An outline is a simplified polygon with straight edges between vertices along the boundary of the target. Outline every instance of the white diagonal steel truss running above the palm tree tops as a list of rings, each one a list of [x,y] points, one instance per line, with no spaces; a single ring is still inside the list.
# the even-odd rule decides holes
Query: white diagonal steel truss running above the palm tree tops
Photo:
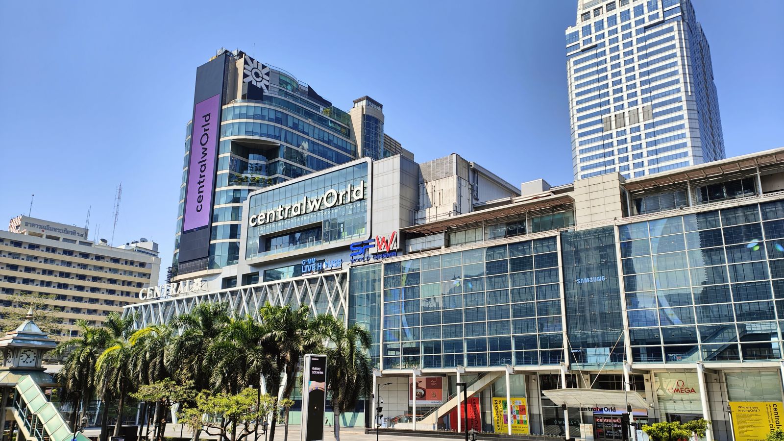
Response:
[[[305,275],[294,279],[264,282],[241,288],[168,297],[145,303],[129,304],[122,315],[139,313],[137,328],[168,323],[173,316],[191,311],[203,302],[226,302],[235,317],[250,315],[259,319],[263,304],[307,304],[314,314],[329,314],[343,323],[348,320],[348,271]]]

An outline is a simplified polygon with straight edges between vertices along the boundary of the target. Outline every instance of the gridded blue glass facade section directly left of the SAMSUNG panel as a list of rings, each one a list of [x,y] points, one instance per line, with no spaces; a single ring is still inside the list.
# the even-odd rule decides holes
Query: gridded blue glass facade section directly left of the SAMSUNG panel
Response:
[[[557,239],[383,264],[383,368],[564,360]]]

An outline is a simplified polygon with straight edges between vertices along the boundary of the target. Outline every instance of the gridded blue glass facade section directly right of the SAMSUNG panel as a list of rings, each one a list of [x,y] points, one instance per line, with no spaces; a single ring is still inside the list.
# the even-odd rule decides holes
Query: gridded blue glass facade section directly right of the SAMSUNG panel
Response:
[[[634,362],[781,358],[784,203],[638,222],[619,234]]]

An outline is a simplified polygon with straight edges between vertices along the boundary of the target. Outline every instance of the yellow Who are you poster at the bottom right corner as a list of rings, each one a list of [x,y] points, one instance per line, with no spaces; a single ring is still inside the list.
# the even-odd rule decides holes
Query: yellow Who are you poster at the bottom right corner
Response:
[[[782,428],[784,404],[779,401],[731,401],[730,410],[735,441],[764,441]]]

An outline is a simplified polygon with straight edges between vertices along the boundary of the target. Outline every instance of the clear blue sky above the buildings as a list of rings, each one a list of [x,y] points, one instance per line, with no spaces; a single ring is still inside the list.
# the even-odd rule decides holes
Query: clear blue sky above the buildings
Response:
[[[781,0],[692,0],[735,156],[784,146]],[[419,162],[572,181],[564,30],[576,0],[0,2],[0,223],[146,237],[171,263],[196,67],[239,48],[348,110],[369,95]]]

